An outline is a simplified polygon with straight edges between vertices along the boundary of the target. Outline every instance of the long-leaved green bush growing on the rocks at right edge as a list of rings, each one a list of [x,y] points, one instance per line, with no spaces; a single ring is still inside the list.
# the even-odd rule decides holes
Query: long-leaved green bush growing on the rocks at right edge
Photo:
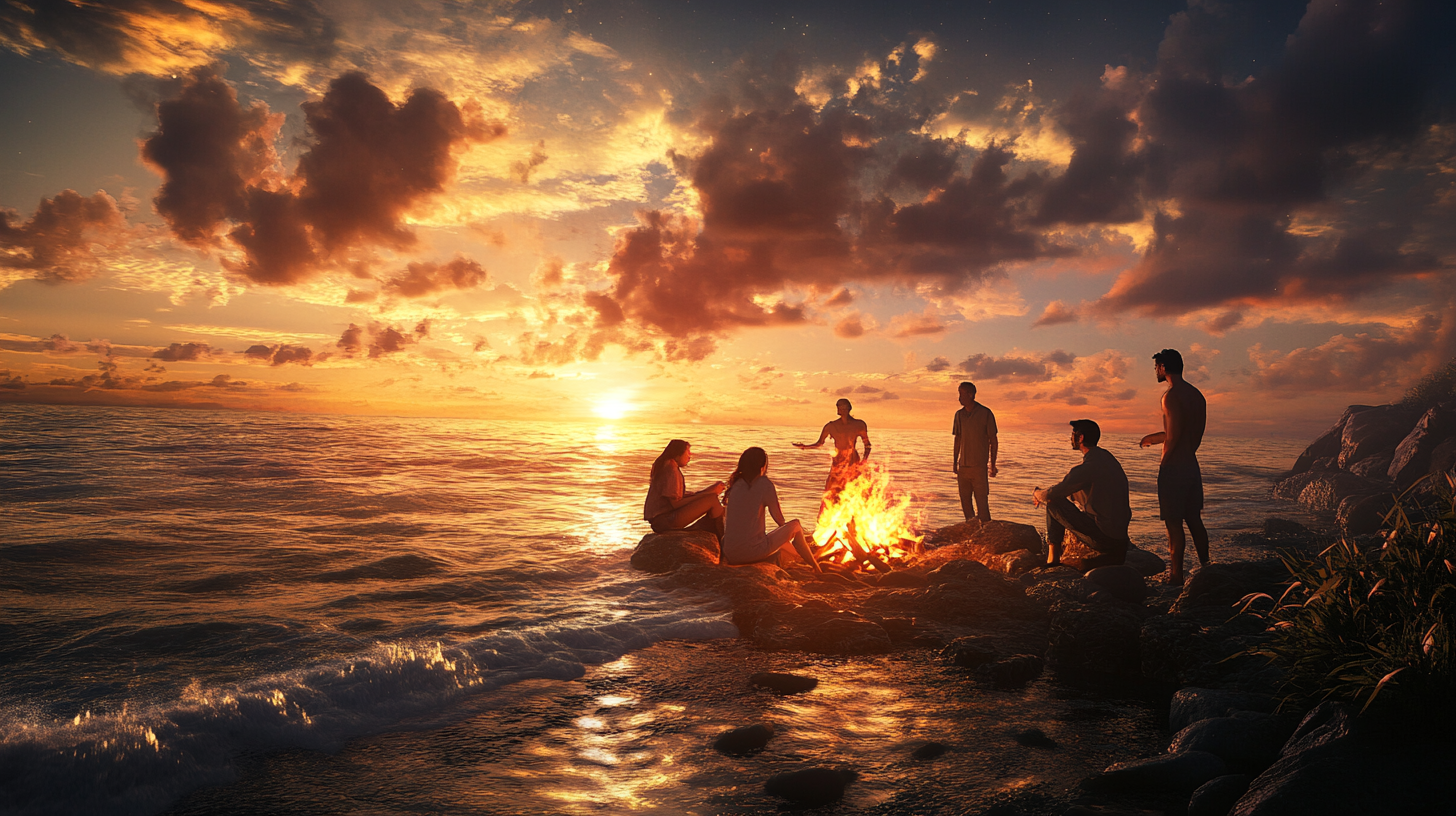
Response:
[[[1348,538],[1315,558],[1281,554],[1283,597],[1264,606],[1273,638],[1258,653],[1284,669],[1284,708],[1322,699],[1399,723],[1456,724],[1456,504],[1386,516],[1380,546]],[[1252,609],[1251,609],[1252,611]]]

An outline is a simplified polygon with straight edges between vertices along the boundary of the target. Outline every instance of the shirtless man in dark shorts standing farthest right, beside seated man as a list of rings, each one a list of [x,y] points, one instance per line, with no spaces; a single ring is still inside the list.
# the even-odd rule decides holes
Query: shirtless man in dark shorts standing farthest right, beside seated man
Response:
[[[1203,526],[1203,474],[1198,471],[1198,444],[1208,423],[1208,401],[1182,379],[1182,354],[1163,348],[1153,354],[1158,382],[1171,383],[1163,392],[1163,430],[1143,437],[1142,446],[1163,446],[1158,465],[1158,511],[1168,527],[1168,583],[1184,581],[1184,523],[1198,551],[1198,564],[1208,565],[1208,530]]]

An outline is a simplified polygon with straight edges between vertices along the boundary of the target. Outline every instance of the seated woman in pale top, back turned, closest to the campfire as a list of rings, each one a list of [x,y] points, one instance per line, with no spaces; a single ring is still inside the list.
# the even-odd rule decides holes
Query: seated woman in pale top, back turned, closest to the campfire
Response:
[[[823,573],[814,551],[804,538],[804,525],[798,519],[783,520],[779,509],[779,491],[769,481],[769,455],[761,447],[750,447],[738,458],[738,469],[728,478],[727,529],[724,532],[724,564],[753,564],[778,557],[780,551],[798,551],[805,564]],[[764,533],[763,511],[773,514],[779,525]]]

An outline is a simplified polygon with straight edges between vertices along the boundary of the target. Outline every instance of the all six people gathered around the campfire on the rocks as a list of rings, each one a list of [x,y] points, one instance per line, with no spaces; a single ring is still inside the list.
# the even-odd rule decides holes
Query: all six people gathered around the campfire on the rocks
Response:
[[[1172,348],[1153,354],[1158,382],[1169,383],[1162,396],[1163,430],[1142,439],[1140,447],[1162,444],[1158,468],[1159,516],[1168,530],[1172,565],[1168,581],[1184,581],[1184,526],[1192,536],[1198,562],[1208,564],[1208,530],[1203,525],[1203,475],[1198,469],[1198,446],[1203,442],[1208,409],[1203,393],[1182,377],[1182,356]],[[965,520],[990,522],[990,479],[997,475],[996,415],[976,401],[976,385],[962,382],[958,388],[961,409],[955,412],[955,437],[951,469],[960,488],[961,511]],[[812,449],[834,442],[834,459],[824,495],[831,497],[853,476],[862,460],[869,459],[869,428],[863,420],[850,415],[847,399],[836,404],[839,418],[824,425],[818,442],[794,443]],[[1092,420],[1070,423],[1070,442],[1082,452],[1082,463],[1072,468],[1057,484],[1032,490],[1031,498],[1047,513],[1047,564],[1061,562],[1066,533],[1072,533],[1098,555],[1083,561],[1083,567],[1121,564],[1131,546],[1127,535],[1133,519],[1127,474],[1117,458],[1101,447],[1102,430]],[[863,456],[858,442],[863,442]],[[692,446],[680,439],[667,444],[652,463],[651,484],[642,517],[654,532],[711,530],[722,542],[725,564],[753,564],[779,558],[780,554],[802,558],[815,571],[818,560],[804,535],[798,519],[785,520],[779,495],[767,476],[769,459],[761,447],[750,447],[738,458],[728,482],[713,482],[686,493],[681,469],[692,460]],[[764,514],[779,525],[766,529]]]

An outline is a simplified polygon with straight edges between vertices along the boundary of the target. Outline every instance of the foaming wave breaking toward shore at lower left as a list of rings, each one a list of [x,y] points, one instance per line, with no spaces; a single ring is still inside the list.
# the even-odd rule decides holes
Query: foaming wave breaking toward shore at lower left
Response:
[[[735,635],[722,618],[674,612],[598,627],[496,631],[454,646],[381,643],[348,659],[237,685],[194,682],[176,699],[68,720],[0,708],[0,810],[159,813],[197,787],[234,780],[243,752],[336,750],[348,739],[444,715],[508,683],[574,680],[588,664],[662,640]]]

